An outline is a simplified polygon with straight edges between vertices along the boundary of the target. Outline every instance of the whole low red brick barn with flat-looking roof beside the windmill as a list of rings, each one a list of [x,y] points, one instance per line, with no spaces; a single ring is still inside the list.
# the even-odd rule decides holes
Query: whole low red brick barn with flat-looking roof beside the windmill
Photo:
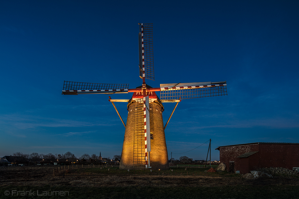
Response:
[[[229,172],[240,174],[263,167],[299,167],[299,143],[256,142],[219,146],[220,162]]]

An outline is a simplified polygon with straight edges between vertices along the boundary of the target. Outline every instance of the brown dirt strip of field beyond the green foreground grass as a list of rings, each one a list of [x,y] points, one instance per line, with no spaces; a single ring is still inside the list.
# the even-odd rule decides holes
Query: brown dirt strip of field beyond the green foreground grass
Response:
[[[80,169],[69,169],[55,172],[52,166],[17,166],[0,167],[0,186],[71,186],[71,187],[103,187],[103,186],[261,186],[261,185],[299,185],[298,177],[275,176],[274,178],[259,178],[248,180],[241,175],[223,176],[208,175],[109,175],[103,173],[85,172]],[[206,173],[206,172],[205,172]]]

